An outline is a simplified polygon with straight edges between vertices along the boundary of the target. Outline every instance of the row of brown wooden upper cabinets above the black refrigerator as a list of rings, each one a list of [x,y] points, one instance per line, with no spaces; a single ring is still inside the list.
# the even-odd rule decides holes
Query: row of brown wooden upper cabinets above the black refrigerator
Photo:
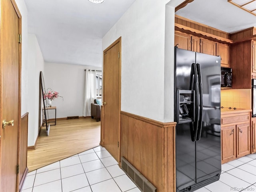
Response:
[[[229,67],[229,46],[175,31],[174,45],[178,48],[221,57],[221,66]]]

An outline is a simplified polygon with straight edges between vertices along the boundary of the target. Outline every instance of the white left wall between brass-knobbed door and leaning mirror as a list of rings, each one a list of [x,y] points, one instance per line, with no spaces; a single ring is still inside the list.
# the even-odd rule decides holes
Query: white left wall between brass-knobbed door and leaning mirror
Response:
[[[28,34],[28,11],[24,0],[15,0],[22,15],[21,115],[28,112],[28,146],[38,135],[39,74],[44,59],[36,36]]]

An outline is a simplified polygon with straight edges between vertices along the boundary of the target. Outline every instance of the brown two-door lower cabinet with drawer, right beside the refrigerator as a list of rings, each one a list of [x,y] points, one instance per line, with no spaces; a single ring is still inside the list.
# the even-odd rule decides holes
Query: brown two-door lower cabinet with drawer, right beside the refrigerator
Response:
[[[222,164],[250,154],[250,112],[221,116]]]

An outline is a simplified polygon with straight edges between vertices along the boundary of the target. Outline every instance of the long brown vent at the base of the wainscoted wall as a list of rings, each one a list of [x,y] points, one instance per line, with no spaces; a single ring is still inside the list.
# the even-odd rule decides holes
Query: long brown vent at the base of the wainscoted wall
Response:
[[[130,164],[124,157],[121,158],[122,170],[130,177],[136,186],[142,192],[156,192],[156,188],[152,185],[132,164]]]

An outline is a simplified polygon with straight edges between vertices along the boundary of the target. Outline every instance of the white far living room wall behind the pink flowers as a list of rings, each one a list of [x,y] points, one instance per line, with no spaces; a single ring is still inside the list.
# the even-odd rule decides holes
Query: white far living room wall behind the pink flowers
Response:
[[[101,70],[101,68],[91,66],[45,62],[45,88],[59,92],[64,98],[64,100],[57,98],[52,101],[52,106],[57,108],[57,118],[82,116],[85,69]]]

